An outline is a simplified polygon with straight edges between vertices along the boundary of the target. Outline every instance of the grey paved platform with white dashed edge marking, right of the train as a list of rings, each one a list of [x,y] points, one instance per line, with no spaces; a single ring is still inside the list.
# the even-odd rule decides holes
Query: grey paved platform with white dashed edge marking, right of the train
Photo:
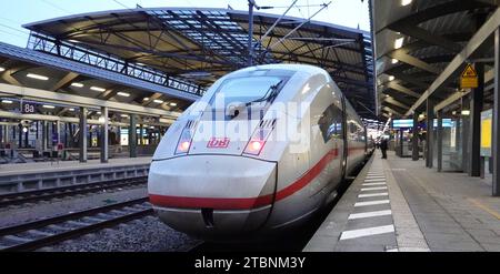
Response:
[[[377,151],[304,247],[308,252],[500,251],[491,183]]]

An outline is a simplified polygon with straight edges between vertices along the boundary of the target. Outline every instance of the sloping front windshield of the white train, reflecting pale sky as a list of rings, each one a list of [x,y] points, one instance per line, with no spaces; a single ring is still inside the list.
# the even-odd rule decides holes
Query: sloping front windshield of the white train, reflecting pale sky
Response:
[[[248,77],[226,80],[212,98],[217,109],[226,109],[229,104],[252,104],[270,101],[281,89],[282,78]],[[213,101],[214,100],[214,101]]]

